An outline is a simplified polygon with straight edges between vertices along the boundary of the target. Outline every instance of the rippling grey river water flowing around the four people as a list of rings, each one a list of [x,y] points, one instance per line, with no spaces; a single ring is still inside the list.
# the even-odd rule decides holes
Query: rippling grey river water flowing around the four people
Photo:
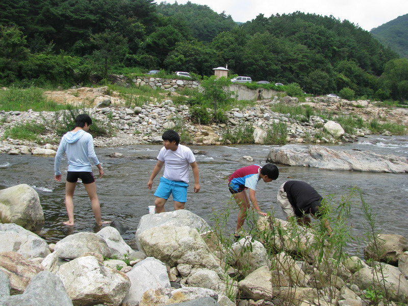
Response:
[[[300,145],[300,144],[299,144]],[[132,244],[140,217],[148,213],[147,207],[154,205],[154,190],[147,188],[150,173],[156,164],[156,157],[162,145],[133,145],[113,148],[96,148],[99,161],[103,164],[105,176],[96,180],[102,215],[105,220],[118,220],[129,226],[122,237]],[[186,209],[206,219],[211,224],[214,212],[225,211],[230,200],[227,176],[236,169],[251,165],[263,165],[273,145],[231,145],[231,146],[190,146],[199,150],[196,155],[201,190],[193,192],[193,176],[190,170],[190,187]],[[370,150],[378,154],[408,156],[408,137],[372,136],[361,138],[358,143],[336,145],[331,148]],[[123,154],[123,158],[111,158],[112,152]],[[243,156],[251,156],[248,162]],[[61,169],[66,168],[66,162]],[[353,186],[362,190],[364,200],[376,214],[376,225],[383,233],[400,234],[408,237],[407,228],[407,174],[371,173],[351,171],[328,171],[316,168],[279,166],[279,177],[271,183],[258,184],[257,198],[265,212],[274,211],[278,218],[284,218],[276,202],[279,186],[290,179],[310,183],[323,197],[332,197],[334,203],[349,193]],[[63,237],[78,232],[97,232],[90,201],[82,184],[78,184],[74,195],[75,225],[65,226],[67,220],[64,205],[65,185],[54,180],[54,159],[34,156],[0,155],[0,189],[17,184],[28,184],[39,194],[43,207],[45,224],[39,235],[48,242],[57,242]],[[94,173],[97,174],[96,167]],[[63,172],[63,176],[64,172]],[[97,175],[95,176],[97,177]],[[166,204],[167,211],[173,210],[171,197]],[[235,230],[237,209],[233,209],[227,227]],[[366,232],[364,215],[360,204],[351,207],[348,224],[353,237],[363,237]],[[348,244],[350,253],[360,253],[362,242]]]

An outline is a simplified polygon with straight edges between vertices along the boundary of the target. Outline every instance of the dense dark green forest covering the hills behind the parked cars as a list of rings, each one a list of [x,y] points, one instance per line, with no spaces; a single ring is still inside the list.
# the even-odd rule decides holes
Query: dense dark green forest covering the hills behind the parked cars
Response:
[[[408,97],[406,61],[367,31],[333,16],[260,14],[238,25],[224,12],[191,2],[0,3],[3,86],[68,87],[150,69],[209,76],[225,65],[230,75],[296,83],[311,94]]]

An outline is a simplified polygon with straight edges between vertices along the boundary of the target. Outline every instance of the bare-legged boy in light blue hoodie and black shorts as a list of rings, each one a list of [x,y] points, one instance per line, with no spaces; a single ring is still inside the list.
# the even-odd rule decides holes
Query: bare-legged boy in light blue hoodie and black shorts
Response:
[[[92,211],[96,224],[102,225],[110,223],[102,221],[98,195],[96,194],[96,184],[92,173],[90,159],[99,170],[99,176],[104,176],[104,170],[96,157],[93,148],[92,135],[87,133],[92,124],[92,119],[87,114],[78,115],[75,120],[75,129],[67,132],[61,139],[54,162],[55,179],[61,182],[60,164],[65,152],[68,160],[67,179],[65,184],[65,206],[68,213],[68,221],[65,225],[73,225],[73,193],[77,186],[78,179],[84,183],[85,190],[92,203]]]

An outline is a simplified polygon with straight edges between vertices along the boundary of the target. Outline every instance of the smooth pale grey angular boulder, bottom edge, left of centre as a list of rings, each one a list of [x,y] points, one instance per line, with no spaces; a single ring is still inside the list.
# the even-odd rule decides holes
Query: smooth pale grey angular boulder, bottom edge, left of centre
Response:
[[[143,293],[149,289],[171,287],[166,265],[153,257],[142,260],[126,275],[132,285],[122,301],[123,306],[138,305]]]

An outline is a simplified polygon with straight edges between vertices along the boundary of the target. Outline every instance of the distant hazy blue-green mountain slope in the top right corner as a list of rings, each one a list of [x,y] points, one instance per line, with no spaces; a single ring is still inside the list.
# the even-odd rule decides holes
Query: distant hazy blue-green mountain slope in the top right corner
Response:
[[[401,57],[408,58],[408,14],[374,28],[370,33]]]

